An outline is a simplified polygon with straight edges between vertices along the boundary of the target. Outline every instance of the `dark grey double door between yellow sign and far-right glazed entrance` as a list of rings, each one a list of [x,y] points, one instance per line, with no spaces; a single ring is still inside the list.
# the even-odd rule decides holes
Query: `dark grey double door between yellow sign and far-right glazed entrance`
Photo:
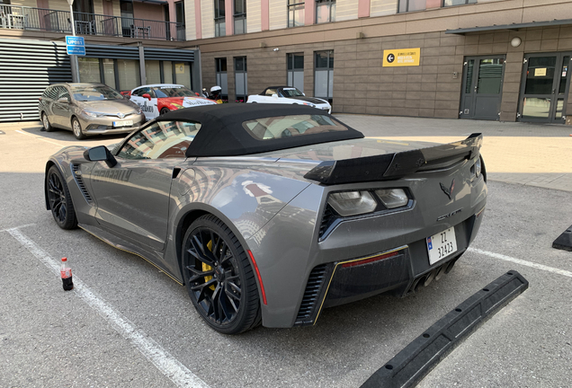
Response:
[[[460,96],[460,119],[497,120],[505,56],[466,57]]]

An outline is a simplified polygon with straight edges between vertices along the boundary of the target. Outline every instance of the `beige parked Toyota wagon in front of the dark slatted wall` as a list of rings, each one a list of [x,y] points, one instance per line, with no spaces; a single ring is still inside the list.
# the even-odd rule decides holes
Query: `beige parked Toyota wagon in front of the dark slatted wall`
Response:
[[[38,111],[46,131],[68,129],[78,139],[129,133],[145,122],[137,104],[106,84],[49,85]]]

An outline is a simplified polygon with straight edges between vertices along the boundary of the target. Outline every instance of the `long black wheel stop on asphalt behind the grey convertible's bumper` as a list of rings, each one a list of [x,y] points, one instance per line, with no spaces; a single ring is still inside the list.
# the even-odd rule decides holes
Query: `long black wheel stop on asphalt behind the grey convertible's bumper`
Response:
[[[415,386],[461,340],[526,288],[528,281],[521,274],[514,270],[508,271],[434,323],[371,375],[361,388]]]

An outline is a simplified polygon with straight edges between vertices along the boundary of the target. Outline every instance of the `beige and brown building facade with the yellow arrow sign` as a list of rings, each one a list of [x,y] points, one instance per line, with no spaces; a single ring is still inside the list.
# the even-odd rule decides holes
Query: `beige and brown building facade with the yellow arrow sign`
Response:
[[[290,84],[335,112],[571,124],[570,0],[245,0],[238,34],[239,1],[187,23],[229,101]]]

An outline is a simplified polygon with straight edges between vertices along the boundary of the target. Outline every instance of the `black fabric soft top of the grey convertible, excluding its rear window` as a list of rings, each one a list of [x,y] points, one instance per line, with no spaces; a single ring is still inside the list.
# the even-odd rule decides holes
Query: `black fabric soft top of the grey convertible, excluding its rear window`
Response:
[[[217,104],[172,110],[157,121],[195,121],[201,129],[186,151],[187,157],[234,156],[277,151],[302,145],[362,138],[363,134],[344,124],[348,130],[320,132],[297,137],[259,140],[243,127],[243,122],[277,116],[317,115],[331,117],[323,110],[285,104]]]

